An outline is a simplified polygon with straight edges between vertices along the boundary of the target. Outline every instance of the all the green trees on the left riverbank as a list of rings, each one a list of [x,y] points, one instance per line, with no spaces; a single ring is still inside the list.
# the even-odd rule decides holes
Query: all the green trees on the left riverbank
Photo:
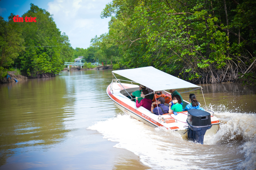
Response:
[[[0,78],[13,68],[20,69],[29,78],[59,74],[74,51],[52,15],[31,4],[22,17],[33,16],[37,22],[14,22],[14,16],[11,14],[8,21],[0,17]]]

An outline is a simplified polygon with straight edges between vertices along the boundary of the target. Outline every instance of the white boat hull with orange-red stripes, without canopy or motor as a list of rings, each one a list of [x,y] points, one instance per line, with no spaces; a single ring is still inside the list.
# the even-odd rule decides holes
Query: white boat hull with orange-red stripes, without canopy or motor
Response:
[[[129,114],[133,118],[145,123],[150,127],[165,127],[167,129],[174,130],[178,132],[184,139],[187,139],[187,112],[180,112],[177,115],[165,114],[159,117],[143,107],[137,108],[135,102],[131,101],[126,96],[128,96],[127,92],[131,93],[138,89],[138,85],[122,83],[121,86],[119,83],[113,82],[108,86],[107,94],[109,98],[113,100],[115,105],[124,113]],[[163,91],[163,93],[169,94],[165,91]],[[220,123],[215,116],[211,116],[211,123],[212,127],[206,131],[206,135],[216,134],[216,132],[219,130]]]

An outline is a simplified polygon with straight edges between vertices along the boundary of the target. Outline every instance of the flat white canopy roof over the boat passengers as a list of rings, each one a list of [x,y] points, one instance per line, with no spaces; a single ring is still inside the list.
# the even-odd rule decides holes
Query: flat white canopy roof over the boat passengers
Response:
[[[136,83],[140,83],[141,85],[144,85],[154,91],[201,87],[167,74],[152,66],[136,69],[116,70],[112,71],[112,73],[119,74],[120,76],[135,81]]]

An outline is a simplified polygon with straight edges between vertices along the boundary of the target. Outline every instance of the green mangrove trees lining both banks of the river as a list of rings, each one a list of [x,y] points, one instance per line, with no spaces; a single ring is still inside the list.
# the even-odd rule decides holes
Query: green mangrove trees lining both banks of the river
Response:
[[[113,69],[153,66],[193,83],[256,84],[256,1],[113,0],[101,17],[109,31],[87,49],[70,46],[50,13],[31,4],[22,17],[0,18],[0,76],[18,68],[30,78],[54,76],[83,56]]]

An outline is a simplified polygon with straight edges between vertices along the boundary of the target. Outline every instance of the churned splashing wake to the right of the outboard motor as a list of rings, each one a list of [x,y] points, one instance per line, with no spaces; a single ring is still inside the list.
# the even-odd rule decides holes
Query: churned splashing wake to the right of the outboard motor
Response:
[[[210,106],[211,110],[216,110]],[[225,110],[225,106],[218,106]],[[239,111],[239,109],[237,109]],[[245,160],[238,165],[238,168],[248,170],[256,169],[256,114],[239,113],[234,110],[220,112],[215,111],[215,116],[221,122],[220,130],[213,136],[212,144],[239,142],[238,148],[244,155]],[[214,142],[213,142],[214,141]],[[209,142],[210,143],[210,142]]]

